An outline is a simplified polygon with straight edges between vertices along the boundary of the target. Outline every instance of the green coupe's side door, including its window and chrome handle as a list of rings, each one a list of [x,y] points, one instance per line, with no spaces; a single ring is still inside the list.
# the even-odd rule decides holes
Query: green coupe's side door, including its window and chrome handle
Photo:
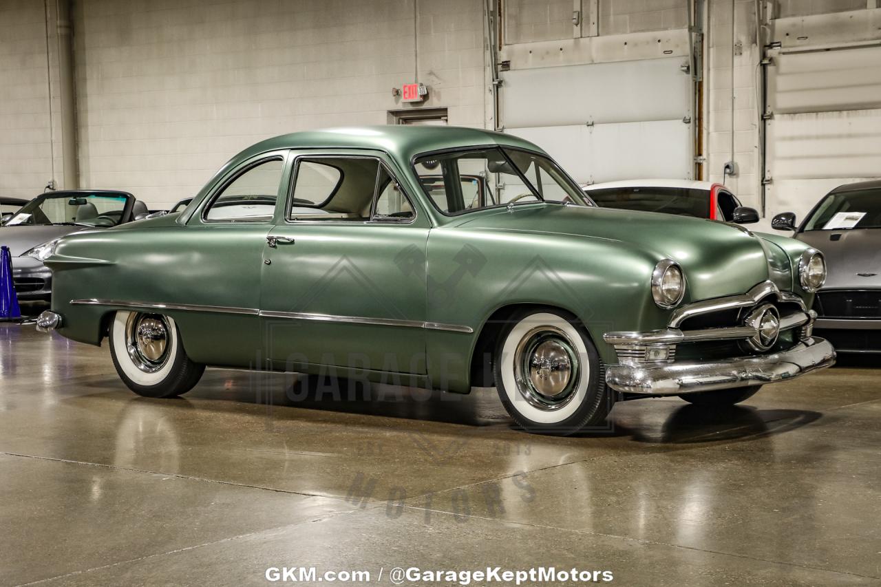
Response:
[[[265,245],[261,316],[274,368],[426,373],[430,224],[381,152],[300,152]]]

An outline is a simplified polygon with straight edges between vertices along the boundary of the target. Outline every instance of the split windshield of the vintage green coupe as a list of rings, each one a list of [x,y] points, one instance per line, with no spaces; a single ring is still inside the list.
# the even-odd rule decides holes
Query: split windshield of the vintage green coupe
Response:
[[[419,157],[419,183],[448,215],[503,204],[548,202],[586,205],[581,190],[552,160],[500,147]]]

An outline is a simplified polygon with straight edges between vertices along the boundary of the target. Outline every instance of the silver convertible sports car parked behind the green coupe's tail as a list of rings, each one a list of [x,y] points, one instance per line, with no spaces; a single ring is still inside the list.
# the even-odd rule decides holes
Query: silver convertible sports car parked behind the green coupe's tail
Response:
[[[52,272],[43,261],[66,234],[115,227],[145,216],[147,206],[124,191],[50,191],[25,204],[0,227],[0,245],[12,254],[19,300],[48,300]]]

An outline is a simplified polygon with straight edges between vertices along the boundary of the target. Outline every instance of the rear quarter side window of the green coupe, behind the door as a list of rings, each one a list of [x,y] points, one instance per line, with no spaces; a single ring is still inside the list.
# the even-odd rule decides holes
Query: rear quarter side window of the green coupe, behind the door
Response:
[[[269,220],[275,211],[285,161],[264,160],[248,168],[214,197],[204,219],[226,222]]]

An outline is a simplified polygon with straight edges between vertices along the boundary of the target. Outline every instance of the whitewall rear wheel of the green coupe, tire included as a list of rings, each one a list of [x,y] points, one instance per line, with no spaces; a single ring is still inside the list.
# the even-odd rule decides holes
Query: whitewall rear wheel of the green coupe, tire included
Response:
[[[189,360],[174,320],[118,311],[110,325],[110,356],[122,382],[145,398],[174,398],[193,389],[205,366]]]

